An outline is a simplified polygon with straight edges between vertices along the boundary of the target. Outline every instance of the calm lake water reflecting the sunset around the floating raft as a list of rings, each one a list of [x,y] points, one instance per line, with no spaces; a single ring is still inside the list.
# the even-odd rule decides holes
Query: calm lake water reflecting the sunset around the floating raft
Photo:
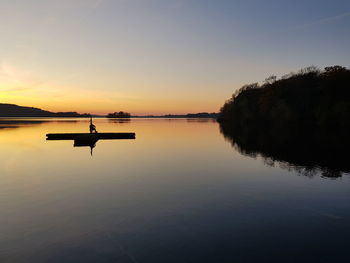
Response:
[[[0,262],[350,262],[350,177],[232,148],[211,120],[0,120]]]

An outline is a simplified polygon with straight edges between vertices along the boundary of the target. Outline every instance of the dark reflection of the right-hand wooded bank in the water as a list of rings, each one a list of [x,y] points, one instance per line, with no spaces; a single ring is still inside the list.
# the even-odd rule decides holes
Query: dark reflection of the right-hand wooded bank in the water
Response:
[[[338,178],[350,172],[348,138],[258,130],[241,132],[225,124],[220,124],[220,132],[238,152],[252,158],[261,156],[268,166],[279,165],[308,177]]]

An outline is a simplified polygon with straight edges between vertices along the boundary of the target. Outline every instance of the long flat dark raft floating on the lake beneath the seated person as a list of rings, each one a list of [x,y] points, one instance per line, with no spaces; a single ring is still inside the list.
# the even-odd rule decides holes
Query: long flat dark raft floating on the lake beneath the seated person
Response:
[[[48,133],[46,140],[113,140],[113,139],[135,139],[133,132],[113,133]]]

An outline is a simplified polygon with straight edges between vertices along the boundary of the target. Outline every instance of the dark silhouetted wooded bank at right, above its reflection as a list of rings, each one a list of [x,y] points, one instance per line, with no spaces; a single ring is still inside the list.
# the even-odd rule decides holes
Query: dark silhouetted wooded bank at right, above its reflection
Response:
[[[350,129],[350,70],[312,66],[262,85],[248,84],[220,109],[219,122],[239,130],[265,131]]]

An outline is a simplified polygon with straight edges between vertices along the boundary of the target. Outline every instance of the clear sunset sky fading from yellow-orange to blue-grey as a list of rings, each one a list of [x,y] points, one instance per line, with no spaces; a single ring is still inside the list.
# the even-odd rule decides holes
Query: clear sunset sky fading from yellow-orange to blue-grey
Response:
[[[0,1],[0,103],[217,112],[311,65],[350,67],[349,0]]]

